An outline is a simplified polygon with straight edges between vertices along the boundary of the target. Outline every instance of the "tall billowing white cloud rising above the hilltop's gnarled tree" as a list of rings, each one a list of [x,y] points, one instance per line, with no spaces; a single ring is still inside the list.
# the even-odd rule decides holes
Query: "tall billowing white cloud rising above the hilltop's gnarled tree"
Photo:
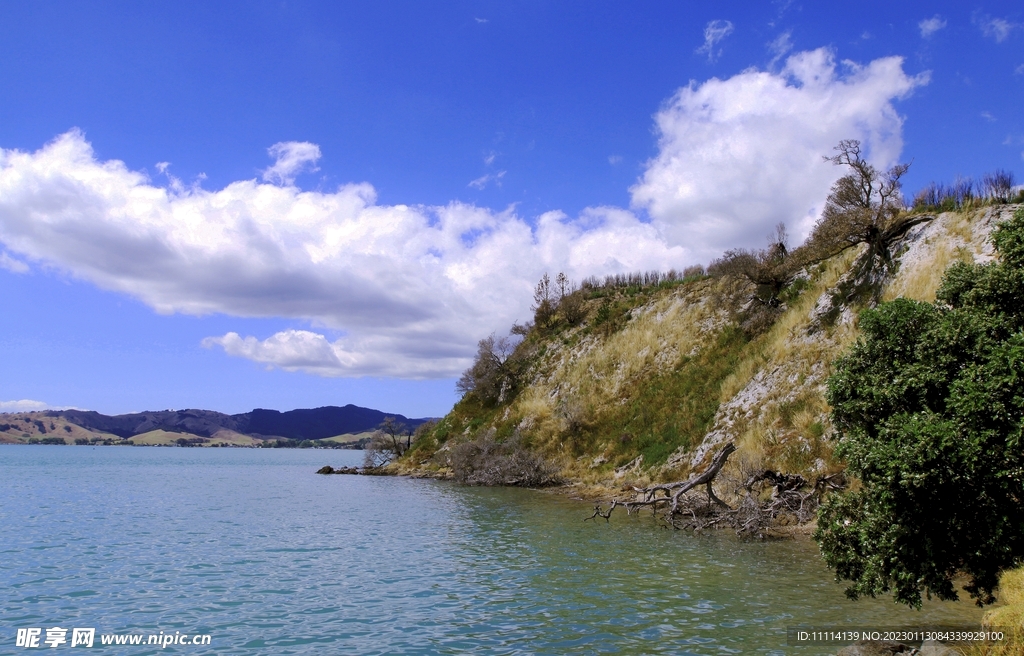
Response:
[[[691,82],[657,113],[658,155],[631,189],[671,244],[707,261],[763,246],[773,225],[806,235],[842,171],[822,162],[860,139],[878,166],[902,149],[892,101],[926,84],[899,57],[839,68],[826,49],[799,52],[778,73]]]

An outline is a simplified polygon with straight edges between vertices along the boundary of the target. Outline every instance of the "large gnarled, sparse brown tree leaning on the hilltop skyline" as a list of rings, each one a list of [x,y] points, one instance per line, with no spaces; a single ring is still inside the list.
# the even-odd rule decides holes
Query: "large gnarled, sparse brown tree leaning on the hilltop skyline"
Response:
[[[804,264],[820,262],[861,244],[867,251],[854,265],[855,288],[868,285],[878,300],[878,285],[870,285],[872,274],[884,266],[894,268],[890,247],[913,226],[930,221],[929,215],[904,212],[900,179],[910,168],[897,164],[881,172],[862,157],[860,141],[844,139],[835,148],[839,154],[825,162],[850,169],[831,187],[821,218],[815,224],[807,245],[800,249]]]

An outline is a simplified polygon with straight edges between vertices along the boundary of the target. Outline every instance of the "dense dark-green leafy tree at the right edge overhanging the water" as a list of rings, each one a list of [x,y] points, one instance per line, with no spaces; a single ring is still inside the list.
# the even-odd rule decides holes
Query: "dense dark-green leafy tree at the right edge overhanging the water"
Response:
[[[818,514],[818,541],[847,595],[956,599],[970,578],[994,601],[1024,562],[1024,210],[993,232],[1000,260],[955,264],[934,304],[861,315],[827,398],[837,453],[862,482]]]

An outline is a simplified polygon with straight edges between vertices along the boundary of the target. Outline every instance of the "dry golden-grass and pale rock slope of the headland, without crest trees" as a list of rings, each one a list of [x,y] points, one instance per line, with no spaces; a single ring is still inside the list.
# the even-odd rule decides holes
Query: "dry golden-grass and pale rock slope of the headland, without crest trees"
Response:
[[[932,301],[954,261],[987,261],[992,226],[1020,206],[944,213],[892,249],[882,298]],[[734,442],[723,472],[808,478],[842,469],[833,456],[824,384],[857,338],[864,306],[840,290],[858,256],[805,270],[770,322],[752,327],[754,286],[690,276],[659,285],[585,289],[584,317],[530,329],[513,358],[521,382],[499,400],[467,394],[399,465],[444,474],[455,446],[515,437],[584,483],[679,478]]]

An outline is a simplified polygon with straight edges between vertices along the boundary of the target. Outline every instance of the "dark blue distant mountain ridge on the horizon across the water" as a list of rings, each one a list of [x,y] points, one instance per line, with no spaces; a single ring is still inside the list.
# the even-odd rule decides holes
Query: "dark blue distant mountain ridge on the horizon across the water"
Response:
[[[410,429],[415,429],[428,421],[428,418],[410,419],[394,412],[383,412],[351,403],[343,407],[326,405],[286,412],[256,408],[242,414],[184,409],[115,416],[91,410],[50,410],[45,412],[45,416],[60,418],[83,429],[111,433],[122,438],[158,430],[212,437],[218,431],[227,430],[252,437],[318,440],[335,435],[372,431],[387,417],[393,417]]]

